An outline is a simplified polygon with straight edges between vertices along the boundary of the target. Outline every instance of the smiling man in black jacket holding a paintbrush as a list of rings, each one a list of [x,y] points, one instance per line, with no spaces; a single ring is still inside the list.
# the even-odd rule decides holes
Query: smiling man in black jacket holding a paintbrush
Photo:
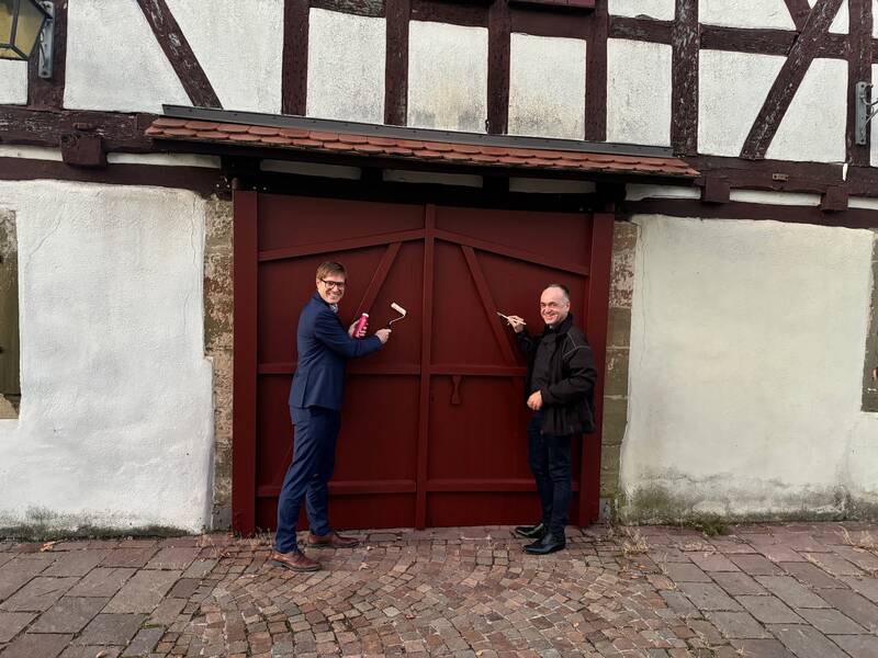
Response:
[[[531,336],[520,317],[508,317],[528,360],[525,396],[533,410],[528,423],[528,458],[542,504],[542,520],[518,526],[516,533],[536,540],[525,546],[534,555],[566,545],[564,527],[573,496],[571,443],[574,435],[595,430],[597,379],[592,348],[573,325],[566,286],[553,283],[542,292],[540,315],[545,322],[540,336]]]

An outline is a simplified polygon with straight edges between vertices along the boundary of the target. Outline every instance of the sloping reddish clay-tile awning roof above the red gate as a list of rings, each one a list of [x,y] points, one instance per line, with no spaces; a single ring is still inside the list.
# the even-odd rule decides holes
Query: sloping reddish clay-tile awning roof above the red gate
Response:
[[[698,172],[686,162],[673,157],[522,148],[451,140],[430,141],[371,134],[313,131],[307,127],[278,127],[159,117],[147,128],[146,134],[157,139],[381,157],[452,166],[678,179],[694,179],[698,175]]]

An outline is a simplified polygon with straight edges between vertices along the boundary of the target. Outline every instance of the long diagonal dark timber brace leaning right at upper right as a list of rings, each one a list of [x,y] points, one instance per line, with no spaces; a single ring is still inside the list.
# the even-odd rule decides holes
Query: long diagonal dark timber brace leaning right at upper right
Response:
[[[821,41],[826,36],[830,24],[838,12],[842,0],[818,0],[801,35],[790,48],[784,67],[775,78],[753,126],[750,129],[742,158],[763,159],[772,144],[784,115],[787,113],[799,86],[818,55]]]

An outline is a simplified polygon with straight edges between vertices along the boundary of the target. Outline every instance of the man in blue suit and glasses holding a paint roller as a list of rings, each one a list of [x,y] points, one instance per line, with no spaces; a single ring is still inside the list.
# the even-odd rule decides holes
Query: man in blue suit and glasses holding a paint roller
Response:
[[[278,500],[278,532],[271,553],[273,561],[294,571],[320,568],[296,544],[295,522],[303,500],[311,527],[308,546],[350,548],[359,543],[333,531],[327,513],[327,484],[333,477],[341,424],[345,363],[380,350],[391,330],[379,329],[374,336],[361,340],[361,336],[353,336],[354,325],[345,331],[338,319],[338,303],[345,296],[346,283],[344,265],[323,263],[317,268],[317,292],[299,316],[299,365],[290,388],[295,450]]]

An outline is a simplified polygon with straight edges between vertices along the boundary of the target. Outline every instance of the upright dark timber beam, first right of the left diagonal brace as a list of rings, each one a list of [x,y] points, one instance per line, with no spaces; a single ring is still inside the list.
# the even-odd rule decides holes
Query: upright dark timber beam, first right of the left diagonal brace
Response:
[[[308,90],[308,0],[284,0],[281,113],[305,115]]]

